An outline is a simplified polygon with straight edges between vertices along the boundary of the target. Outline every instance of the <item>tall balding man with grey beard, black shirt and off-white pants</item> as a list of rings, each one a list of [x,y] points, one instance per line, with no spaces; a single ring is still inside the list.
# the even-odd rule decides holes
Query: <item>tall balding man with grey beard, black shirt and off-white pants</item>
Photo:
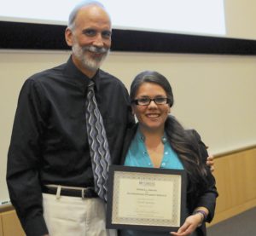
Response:
[[[28,78],[20,91],[7,183],[28,236],[110,235],[104,200],[94,191],[85,110],[93,81],[111,164],[119,164],[125,130],[134,118],[124,84],[99,69],[111,32],[101,3],[79,4],[65,32],[72,56],[66,64]]]

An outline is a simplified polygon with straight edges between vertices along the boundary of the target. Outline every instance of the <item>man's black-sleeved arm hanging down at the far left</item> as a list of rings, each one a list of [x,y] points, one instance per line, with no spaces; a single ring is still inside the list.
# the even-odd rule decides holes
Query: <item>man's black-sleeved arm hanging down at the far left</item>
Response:
[[[33,236],[48,233],[39,180],[40,141],[44,129],[44,104],[39,89],[39,85],[29,79],[20,91],[7,164],[11,202],[26,235]]]

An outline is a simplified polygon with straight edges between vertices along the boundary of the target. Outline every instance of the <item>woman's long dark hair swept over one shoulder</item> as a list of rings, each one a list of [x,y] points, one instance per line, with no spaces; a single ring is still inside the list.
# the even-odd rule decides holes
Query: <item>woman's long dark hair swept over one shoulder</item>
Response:
[[[169,105],[173,105],[172,87],[168,80],[159,72],[145,71],[141,72],[134,78],[131,83],[130,98],[135,99],[137,89],[143,83],[156,83],[166,91],[167,97],[170,99]],[[199,143],[191,132],[183,129],[176,118],[169,116],[166,119],[165,131],[173,150],[181,159],[184,169],[187,171],[191,185],[190,191],[198,191],[207,186],[207,170],[202,162]],[[205,162],[205,161],[204,161]]]

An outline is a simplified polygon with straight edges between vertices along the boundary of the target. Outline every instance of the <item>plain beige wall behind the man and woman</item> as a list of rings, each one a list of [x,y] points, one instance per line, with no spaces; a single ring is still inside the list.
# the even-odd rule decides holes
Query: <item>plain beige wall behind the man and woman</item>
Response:
[[[255,11],[253,0],[226,0],[229,37],[256,38]],[[20,87],[30,75],[66,61],[68,55],[0,50],[0,201],[9,199],[6,156]],[[255,65],[255,56],[112,53],[102,68],[127,87],[145,69],[166,75],[175,95],[173,114],[198,130],[214,154],[256,143]]]

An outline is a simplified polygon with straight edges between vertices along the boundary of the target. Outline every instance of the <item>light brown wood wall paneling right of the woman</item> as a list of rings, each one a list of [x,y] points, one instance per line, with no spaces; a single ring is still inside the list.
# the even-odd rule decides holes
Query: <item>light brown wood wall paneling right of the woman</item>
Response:
[[[256,206],[255,157],[256,146],[216,158],[213,175],[219,196],[210,226]]]

